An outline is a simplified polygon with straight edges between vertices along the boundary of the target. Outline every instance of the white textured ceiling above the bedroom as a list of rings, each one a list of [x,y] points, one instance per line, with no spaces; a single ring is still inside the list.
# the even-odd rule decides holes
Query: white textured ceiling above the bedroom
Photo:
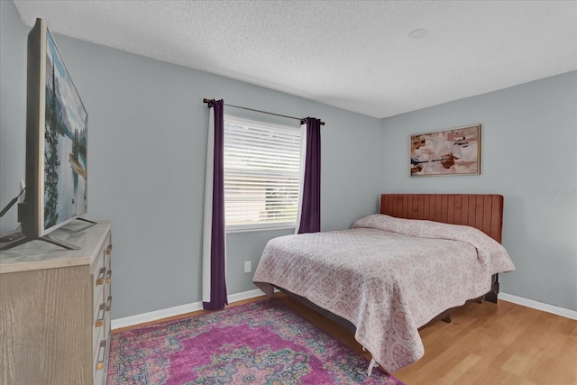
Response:
[[[576,1],[14,4],[29,26],[374,117],[577,69]]]

